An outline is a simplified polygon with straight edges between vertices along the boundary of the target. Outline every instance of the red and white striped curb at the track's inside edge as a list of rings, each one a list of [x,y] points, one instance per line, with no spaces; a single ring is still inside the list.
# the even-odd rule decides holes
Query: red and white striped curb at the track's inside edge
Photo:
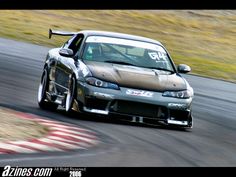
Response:
[[[17,115],[19,118],[36,121],[41,125],[47,126],[49,132],[45,137],[38,139],[0,142],[0,154],[88,149],[99,143],[96,133],[91,130],[59,121],[46,120],[33,114],[9,112]]]

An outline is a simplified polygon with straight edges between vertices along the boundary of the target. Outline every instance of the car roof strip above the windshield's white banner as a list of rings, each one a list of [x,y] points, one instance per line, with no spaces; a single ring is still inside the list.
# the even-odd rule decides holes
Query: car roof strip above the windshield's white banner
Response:
[[[117,33],[117,32],[110,32],[110,31],[96,31],[96,30],[83,30],[83,31],[79,31],[78,33],[82,33],[85,36],[97,35],[97,36],[132,39],[132,40],[137,40],[137,41],[155,43],[155,44],[163,46],[159,41],[156,41],[154,39],[150,39],[150,38],[146,38],[146,37],[142,37],[142,36],[137,36],[137,35],[125,34],[125,33]]]

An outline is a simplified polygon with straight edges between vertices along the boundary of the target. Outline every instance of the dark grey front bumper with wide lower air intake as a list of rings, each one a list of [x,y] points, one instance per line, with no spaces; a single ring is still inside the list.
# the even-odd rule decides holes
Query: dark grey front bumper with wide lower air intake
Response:
[[[166,124],[192,126],[192,98],[163,97],[162,92],[143,91],[141,95],[130,95],[130,90],[99,88],[78,82],[77,101],[82,103],[80,111],[102,115],[122,115],[132,121],[163,121]],[[145,93],[149,94],[145,94]],[[190,125],[191,124],[191,125]]]

